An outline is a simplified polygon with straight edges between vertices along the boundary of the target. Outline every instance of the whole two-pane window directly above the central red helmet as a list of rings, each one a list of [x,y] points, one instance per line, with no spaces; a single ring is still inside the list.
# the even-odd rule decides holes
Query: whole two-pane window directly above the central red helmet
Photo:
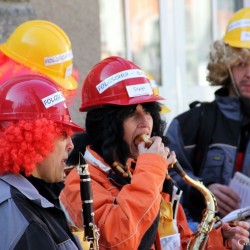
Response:
[[[99,0],[101,58],[126,57],[161,82],[157,0]]]

